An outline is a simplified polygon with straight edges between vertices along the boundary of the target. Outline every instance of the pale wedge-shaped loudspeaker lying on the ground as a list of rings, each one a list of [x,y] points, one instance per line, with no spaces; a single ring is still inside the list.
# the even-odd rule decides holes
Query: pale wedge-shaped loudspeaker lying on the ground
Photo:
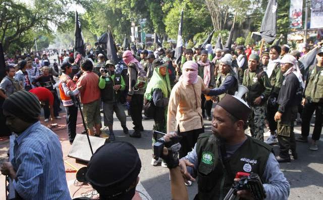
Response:
[[[89,138],[91,141],[93,153],[105,142],[104,138],[94,136],[89,136]],[[85,162],[90,161],[92,153],[86,135],[76,134],[71,150],[67,156]]]

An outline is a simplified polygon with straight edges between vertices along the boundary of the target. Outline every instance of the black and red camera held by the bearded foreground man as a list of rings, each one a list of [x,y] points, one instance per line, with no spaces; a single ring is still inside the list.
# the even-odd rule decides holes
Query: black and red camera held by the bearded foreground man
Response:
[[[262,182],[258,174],[238,172],[235,178],[240,178],[239,182],[235,182],[224,200],[233,200],[237,196],[239,190],[249,190],[255,200],[262,200],[266,198]]]

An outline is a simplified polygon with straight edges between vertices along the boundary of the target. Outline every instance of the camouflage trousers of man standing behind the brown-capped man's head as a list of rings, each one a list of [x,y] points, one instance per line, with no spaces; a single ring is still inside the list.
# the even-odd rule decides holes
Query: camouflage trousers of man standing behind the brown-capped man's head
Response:
[[[253,138],[263,141],[263,127],[265,119],[265,106],[250,106],[251,113],[248,119],[249,131]]]

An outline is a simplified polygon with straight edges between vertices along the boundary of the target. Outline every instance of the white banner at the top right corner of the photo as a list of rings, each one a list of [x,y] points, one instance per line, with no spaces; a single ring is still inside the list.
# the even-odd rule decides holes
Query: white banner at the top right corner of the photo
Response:
[[[310,28],[323,28],[323,0],[312,0]]]

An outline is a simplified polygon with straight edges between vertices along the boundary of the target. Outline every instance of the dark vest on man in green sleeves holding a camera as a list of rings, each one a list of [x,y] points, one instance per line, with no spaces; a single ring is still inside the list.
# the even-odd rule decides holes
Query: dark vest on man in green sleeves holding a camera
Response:
[[[105,87],[101,89],[101,98],[103,102],[119,102],[120,101],[120,90],[115,91],[114,85],[121,85],[121,75],[115,74],[114,81],[111,77],[105,78]]]

